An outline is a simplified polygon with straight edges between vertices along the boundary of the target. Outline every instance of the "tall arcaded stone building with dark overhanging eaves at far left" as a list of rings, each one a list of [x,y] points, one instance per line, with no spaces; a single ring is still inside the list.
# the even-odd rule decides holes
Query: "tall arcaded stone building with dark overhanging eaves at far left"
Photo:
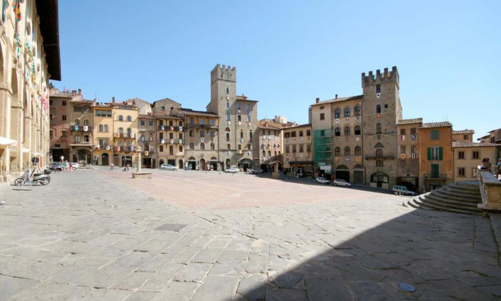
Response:
[[[0,182],[50,162],[49,80],[61,80],[57,1],[0,4]],[[16,11],[19,9],[19,14]]]

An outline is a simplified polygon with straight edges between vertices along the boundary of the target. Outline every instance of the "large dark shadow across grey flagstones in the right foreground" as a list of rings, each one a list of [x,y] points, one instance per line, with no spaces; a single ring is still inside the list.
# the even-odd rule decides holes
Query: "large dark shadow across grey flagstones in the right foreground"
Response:
[[[294,244],[272,245],[268,280],[266,274],[242,280],[235,300],[487,301],[501,297],[501,269],[488,218],[416,210],[355,237],[329,231],[316,236],[331,249],[308,260],[300,259]],[[276,251],[280,249],[287,251]],[[295,259],[301,263],[284,265]],[[257,282],[261,284],[252,285]],[[416,290],[399,289],[401,283]]]

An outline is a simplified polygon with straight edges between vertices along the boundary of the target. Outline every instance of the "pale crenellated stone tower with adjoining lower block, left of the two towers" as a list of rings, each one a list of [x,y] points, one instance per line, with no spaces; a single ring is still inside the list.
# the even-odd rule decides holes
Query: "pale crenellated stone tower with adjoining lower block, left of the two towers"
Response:
[[[248,168],[253,162],[252,139],[256,133],[257,101],[236,95],[236,67],[217,64],[210,72],[207,111],[219,116],[217,149],[224,168]],[[249,149],[250,148],[250,149]]]

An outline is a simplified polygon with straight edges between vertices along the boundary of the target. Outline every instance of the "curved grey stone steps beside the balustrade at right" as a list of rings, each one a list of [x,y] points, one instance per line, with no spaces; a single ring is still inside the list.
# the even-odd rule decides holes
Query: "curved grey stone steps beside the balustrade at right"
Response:
[[[404,206],[426,210],[482,215],[477,204],[482,203],[476,181],[459,181],[427,192],[404,202]]]

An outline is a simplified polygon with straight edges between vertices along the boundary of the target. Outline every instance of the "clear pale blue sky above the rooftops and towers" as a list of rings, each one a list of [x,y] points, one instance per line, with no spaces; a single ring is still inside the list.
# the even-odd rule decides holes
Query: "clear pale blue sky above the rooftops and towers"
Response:
[[[258,117],[362,94],[397,66],[404,118],[501,127],[501,1],[60,1],[62,81],[110,101],[165,97],[205,110],[210,70],[236,66]]]

